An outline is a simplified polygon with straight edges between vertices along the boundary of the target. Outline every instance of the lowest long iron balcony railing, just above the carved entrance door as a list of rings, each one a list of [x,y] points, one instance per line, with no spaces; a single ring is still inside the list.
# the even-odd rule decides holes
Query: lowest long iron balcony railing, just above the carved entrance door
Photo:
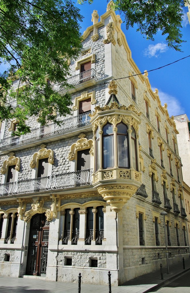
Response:
[[[0,184],[0,196],[23,193],[37,193],[46,190],[90,185],[92,184],[92,172],[92,169],[87,169],[82,171]]]

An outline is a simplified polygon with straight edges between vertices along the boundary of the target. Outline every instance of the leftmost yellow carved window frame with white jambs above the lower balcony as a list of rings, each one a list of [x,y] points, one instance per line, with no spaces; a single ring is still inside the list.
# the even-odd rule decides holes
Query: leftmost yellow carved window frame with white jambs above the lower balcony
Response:
[[[1,184],[4,184],[7,179],[8,167],[15,165],[15,181],[18,181],[18,172],[20,171],[20,158],[15,157],[14,153],[11,152],[7,160],[3,162],[3,166],[1,167],[0,173],[2,174]]]

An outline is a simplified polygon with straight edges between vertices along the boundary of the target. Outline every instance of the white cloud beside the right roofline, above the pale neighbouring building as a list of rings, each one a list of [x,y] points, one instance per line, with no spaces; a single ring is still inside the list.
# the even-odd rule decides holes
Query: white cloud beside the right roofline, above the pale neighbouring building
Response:
[[[153,88],[152,90],[154,91]],[[182,115],[185,113],[184,108],[180,105],[180,102],[179,100],[177,100],[177,98],[163,91],[159,91],[158,95],[159,95],[162,106],[164,106],[164,103],[167,103],[167,110],[170,117],[172,115],[177,116],[177,115]]]

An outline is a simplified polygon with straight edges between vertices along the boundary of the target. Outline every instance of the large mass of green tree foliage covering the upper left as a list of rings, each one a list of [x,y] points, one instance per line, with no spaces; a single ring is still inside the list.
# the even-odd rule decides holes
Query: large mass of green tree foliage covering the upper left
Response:
[[[7,65],[0,74],[0,120],[18,120],[17,134],[30,131],[26,120],[32,115],[45,125],[57,122],[53,110],[70,113],[70,95],[57,88],[71,88],[68,60],[80,53],[80,21],[70,0],[0,1],[0,64]]]

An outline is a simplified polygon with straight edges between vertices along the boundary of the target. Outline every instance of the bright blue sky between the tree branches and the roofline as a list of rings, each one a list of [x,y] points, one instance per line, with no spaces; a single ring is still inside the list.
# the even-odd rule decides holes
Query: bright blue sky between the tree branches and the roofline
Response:
[[[84,16],[81,24],[81,33],[86,28],[92,25],[91,13],[97,10],[99,16],[106,12],[106,0],[94,0],[93,4],[77,4],[80,8],[81,14]],[[176,52],[167,47],[165,38],[158,34],[155,41],[146,40],[142,35],[136,31],[137,28],[129,28],[126,30],[125,23],[121,24],[121,28],[126,35],[126,39],[130,50],[132,51],[132,58],[139,67],[141,72],[144,70],[151,70],[168,63],[174,62],[178,59],[190,55],[190,24],[186,16],[188,8],[184,8],[185,17],[183,21],[183,40],[186,43],[182,44],[183,52]],[[118,12],[116,14],[119,14]],[[121,15],[124,21],[124,17]],[[148,74],[151,87],[159,90],[159,97],[162,105],[167,103],[169,115],[181,115],[186,113],[190,119],[190,57],[181,60],[175,64],[167,66],[163,69],[152,71]]]

